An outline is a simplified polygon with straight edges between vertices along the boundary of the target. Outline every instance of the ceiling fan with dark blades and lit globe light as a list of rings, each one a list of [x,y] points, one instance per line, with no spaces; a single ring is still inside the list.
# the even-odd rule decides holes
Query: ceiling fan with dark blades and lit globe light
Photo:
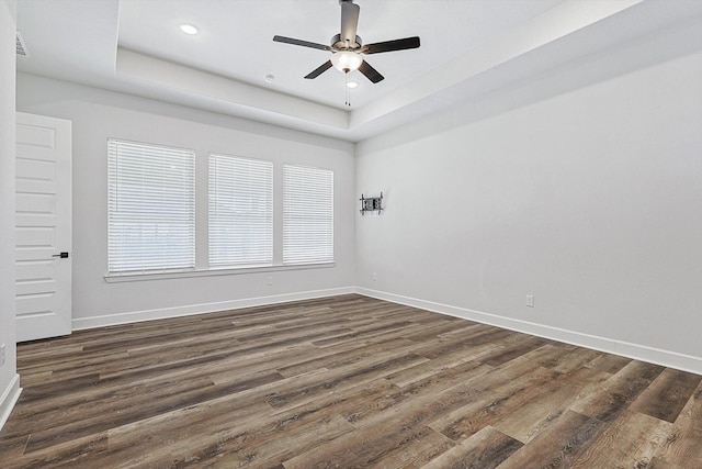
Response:
[[[279,43],[318,48],[332,53],[329,60],[307,74],[305,78],[317,78],[324,71],[335,67],[346,74],[358,69],[369,80],[377,83],[385,77],[383,77],[375,68],[371,67],[371,65],[361,57],[361,54],[380,54],[383,52],[405,51],[419,47],[418,36],[364,45],[361,42],[361,37],[355,34],[359,25],[359,13],[361,8],[353,3],[353,0],[339,0],[339,4],[341,5],[341,32],[340,34],[331,37],[330,45],[328,46],[292,37],[273,36],[273,41]]]

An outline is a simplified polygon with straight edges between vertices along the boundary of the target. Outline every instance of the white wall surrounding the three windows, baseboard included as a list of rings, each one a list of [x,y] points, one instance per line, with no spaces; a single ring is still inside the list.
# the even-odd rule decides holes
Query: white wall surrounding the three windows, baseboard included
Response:
[[[353,145],[279,127],[31,75],[18,76],[18,110],[69,119],[73,129],[73,327],[89,327],[351,291],[354,286]],[[331,268],[148,281],[105,281],[109,137],[196,150],[197,233],[206,238],[207,153],[270,159],[280,188],[283,163],[335,171]],[[280,227],[280,216],[279,227]],[[206,264],[206,244],[197,246]],[[268,286],[267,278],[273,284]]]

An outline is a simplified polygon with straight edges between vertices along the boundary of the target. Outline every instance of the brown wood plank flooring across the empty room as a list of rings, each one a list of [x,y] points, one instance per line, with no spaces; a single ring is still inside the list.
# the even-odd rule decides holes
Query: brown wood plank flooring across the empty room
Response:
[[[702,468],[702,377],[361,295],[21,344],[1,468]]]

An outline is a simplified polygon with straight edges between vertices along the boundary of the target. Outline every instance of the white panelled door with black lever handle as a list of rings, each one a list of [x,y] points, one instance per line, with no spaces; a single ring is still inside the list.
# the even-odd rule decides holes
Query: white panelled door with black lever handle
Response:
[[[18,342],[71,330],[71,122],[18,112]]]

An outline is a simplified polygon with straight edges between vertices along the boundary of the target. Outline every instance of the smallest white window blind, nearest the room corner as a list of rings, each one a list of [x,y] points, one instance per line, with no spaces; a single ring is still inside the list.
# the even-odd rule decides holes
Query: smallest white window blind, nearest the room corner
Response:
[[[283,264],[333,260],[333,172],[283,166]]]

